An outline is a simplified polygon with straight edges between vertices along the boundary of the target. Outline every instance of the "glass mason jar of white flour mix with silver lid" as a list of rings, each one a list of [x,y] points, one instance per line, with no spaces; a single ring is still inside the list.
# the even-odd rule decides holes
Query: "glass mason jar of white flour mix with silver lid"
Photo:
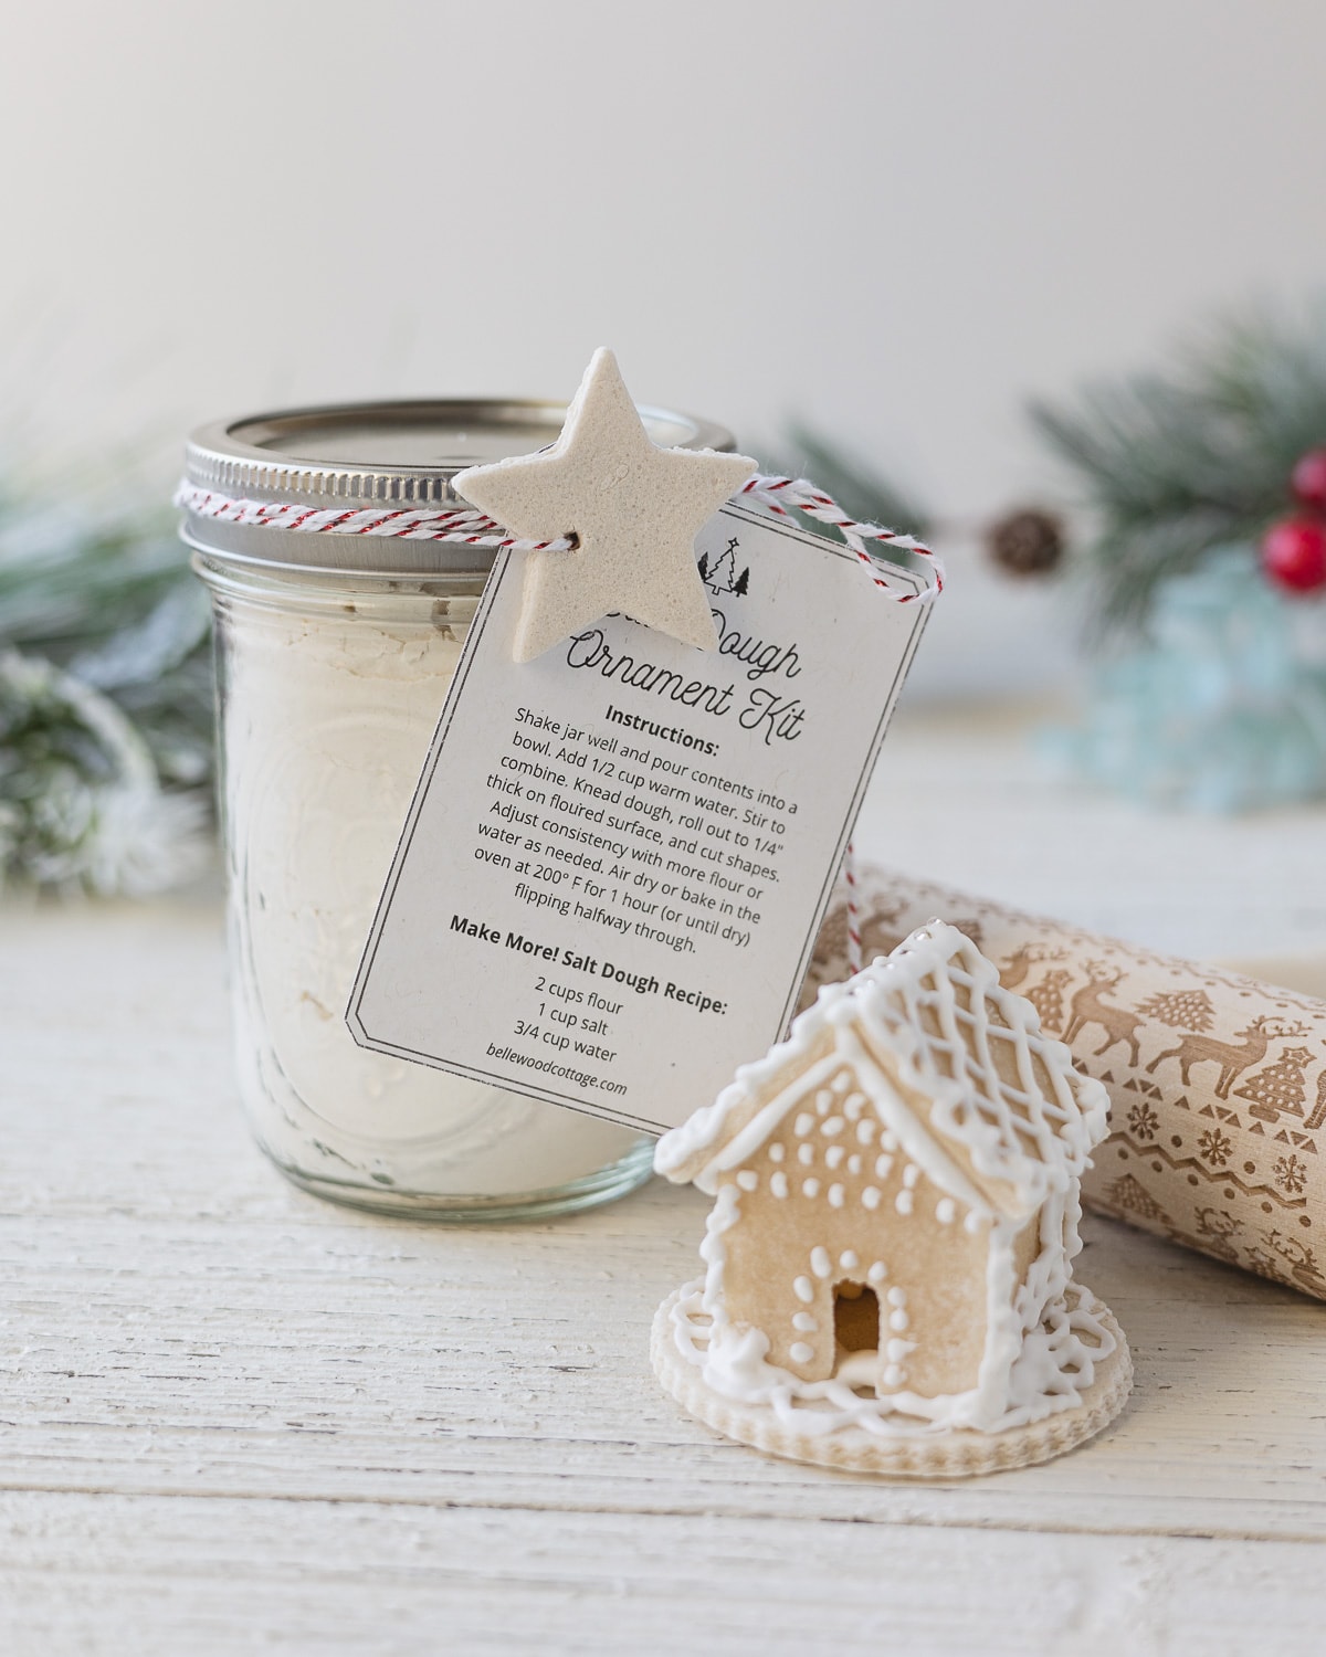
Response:
[[[733,447],[706,423],[640,413],[663,447]],[[187,447],[181,534],[215,613],[239,1087],[259,1145],[318,1196],[509,1220],[610,1201],[650,1173],[653,1142],[633,1128],[370,1052],[345,1022],[494,553],[308,525],[462,507],[457,471],[544,447],[564,416],[300,409],[206,426]]]

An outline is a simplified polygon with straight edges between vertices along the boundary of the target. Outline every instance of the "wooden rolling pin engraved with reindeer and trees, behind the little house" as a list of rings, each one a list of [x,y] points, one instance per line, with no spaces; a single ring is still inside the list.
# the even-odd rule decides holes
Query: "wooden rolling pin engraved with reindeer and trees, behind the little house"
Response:
[[[935,916],[961,928],[1106,1084],[1089,1208],[1326,1299],[1326,1001],[872,867],[857,906],[865,961]],[[845,976],[839,895],[802,1006]]]

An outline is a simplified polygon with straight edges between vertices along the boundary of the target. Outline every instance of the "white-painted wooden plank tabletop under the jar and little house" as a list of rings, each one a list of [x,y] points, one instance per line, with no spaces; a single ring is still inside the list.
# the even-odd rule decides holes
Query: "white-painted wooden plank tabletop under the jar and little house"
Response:
[[[1152,819],[903,716],[862,835],[1205,954],[1326,941],[1326,815]],[[1232,870],[1236,878],[1230,878]],[[648,1369],[706,1201],[336,1210],[254,1152],[219,906],[0,910],[0,1652],[1326,1649],[1326,1306],[1109,1221],[1137,1390],[966,1485],[766,1460]]]

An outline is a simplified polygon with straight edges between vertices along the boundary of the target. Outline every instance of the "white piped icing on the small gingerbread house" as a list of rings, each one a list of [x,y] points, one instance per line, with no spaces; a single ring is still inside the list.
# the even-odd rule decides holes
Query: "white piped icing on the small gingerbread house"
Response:
[[[958,1001],[955,984],[965,988],[966,1007]],[[1003,1082],[991,1059],[991,1002],[1006,1024],[994,1039],[1008,1042],[1014,1051],[1016,1084],[1011,1087]],[[923,1012],[938,1026],[938,1036],[928,1029]],[[870,1057],[857,1034],[862,1021],[872,1031],[872,1039],[893,1056],[903,1087],[930,1100],[928,1122],[915,1117],[900,1090]],[[809,1057],[809,1044],[819,1039],[825,1026],[832,1031],[832,1051],[781,1087],[724,1145],[721,1135],[726,1115],[753,1095],[757,1097],[761,1085],[776,1074],[786,1075],[789,1060]],[[963,1032],[963,1026],[970,1034]],[[1049,1080],[1049,1097],[1036,1080],[1036,1051]],[[940,1064],[940,1054],[946,1062]],[[985,1087],[973,1082],[973,1069]],[[849,1092],[849,1104],[839,1107],[842,1115],[829,1117],[827,1112]],[[840,1359],[839,1374],[830,1380],[806,1382],[767,1362],[769,1337],[762,1331],[738,1327],[728,1321],[723,1302],[723,1238],[738,1223],[741,1193],[736,1183],[721,1180],[721,1175],[751,1160],[782,1118],[811,1094],[815,1095],[815,1114],[824,1118],[819,1125],[829,1137],[842,1132],[864,1109],[857,1105],[852,1110],[849,1105],[864,1099],[874,1107],[880,1123],[877,1178],[887,1178],[892,1168],[888,1153],[902,1150],[907,1157],[903,1186],[895,1200],[898,1213],[912,1211],[913,1191],[925,1176],[946,1193],[935,1206],[941,1225],[956,1218],[956,1205],[961,1203],[966,1210],[965,1229],[988,1229],[986,1341],[971,1390],[940,1397],[905,1390],[892,1390],[883,1397],[857,1392],[857,1387],[872,1385],[878,1372],[880,1354],[864,1352]],[[1009,1107],[1009,1095],[1019,1107],[1018,1112]],[[776,1047],[766,1060],[744,1065],[714,1105],[698,1110],[690,1122],[660,1142],[656,1167],[663,1173],[676,1171],[698,1153],[714,1148],[714,1155],[694,1175],[701,1190],[716,1195],[701,1246],[708,1269],[703,1287],[693,1284],[673,1312],[678,1350],[701,1367],[704,1380],[714,1390],[746,1403],[769,1403],[781,1418],[796,1418],[799,1430],[811,1432],[845,1427],[877,1433],[933,1432],[946,1427],[999,1432],[1074,1407],[1092,1382],[1094,1364],[1114,1350],[1112,1336],[1094,1314],[1089,1296],[1072,1284],[1071,1271],[1081,1249],[1077,1176],[1087,1163],[1091,1147],[1104,1135],[1106,1109],[1104,1089],[1072,1070],[1067,1049],[1041,1036],[1034,1009],[998,984],[993,964],[961,933],[943,923],[922,928],[893,956],[872,963],[849,984],[820,991],[815,1006],[794,1022],[787,1042]],[[862,1145],[874,1137],[874,1123],[870,1132],[864,1132],[869,1123],[870,1117],[865,1115],[855,1128]],[[794,1132],[807,1137],[814,1127],[815,1117],[802,1109]],[[943,1150],[943,1138],[961,1143],[980,1175],[1011,1186],[1023,1213],[996,1213]],[[832,1167],[837,1162],[839,1158]],[[772,1176],[771,1188],[776,1188],[779,1178],[781,1175]],[[807,1196],[817,1195],[819,1188],[819,1180],[802,1181]],[[830,1201],[834,1193],[840,1205],[842,1186],[830,1186]],[[867,1210],[875,1210],[878,1201],[877,1186],[862,1191]],[[1036,1210],[1039,1249],[1024,1279],[1018,1283],[1014,1246],[1028,1215]],[[847,1268],[847,1253],[842,1264],[855,1269]],[[852,1259],[855,1261],[855,1254]],[[820,1246],[812,1251],[811,1261],[820,1278],[832,1271],[829,1253]],[[872,1283],[882,1283],[885,1276],[882,1261],[872,1263],[867,1271]],[[797,1276],[792,1287],[799,1301],[814,1301],[811,1278]],[[895,1332],[885,1342],[887,1367],[882,1380],[888,1389],[902,1389],[907,1379],[903,1360],[915,1350],[915,1342],[902,1334],[910,1326],[905,1292],[900,1287],[890,1289],[887,1302],[892,1307],[888,1326]],[[811,1314],[796,1316],[801,1319]],[[801,1329],[799,1322],[797,1327]],[[809,1362],[814,1349],[799,1341],[792,1344],[789,1355],[794,1362]]]

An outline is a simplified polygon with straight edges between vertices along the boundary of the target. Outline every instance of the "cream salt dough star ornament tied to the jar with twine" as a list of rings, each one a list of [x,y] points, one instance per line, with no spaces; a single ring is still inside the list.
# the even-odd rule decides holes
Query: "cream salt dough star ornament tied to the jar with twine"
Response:
[[[525,553],[515,659],[534,661],[610,611],[714,650],[694,539],[754,471],[743,454],[651,444],[617,358],[595,351],[550,449],[472,466],[454,481],[520,539],[577,539],[567,552]]]

